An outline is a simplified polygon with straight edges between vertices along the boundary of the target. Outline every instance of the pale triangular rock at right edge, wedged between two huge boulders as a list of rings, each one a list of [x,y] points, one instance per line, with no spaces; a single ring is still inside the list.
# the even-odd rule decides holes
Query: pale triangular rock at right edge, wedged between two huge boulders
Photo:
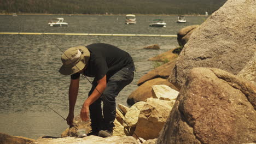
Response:
[[[243,77],[243,79],[256,84],[256,52],[254,53],[251,61],[246,64],[245,68],[243,68],[237,76]]]

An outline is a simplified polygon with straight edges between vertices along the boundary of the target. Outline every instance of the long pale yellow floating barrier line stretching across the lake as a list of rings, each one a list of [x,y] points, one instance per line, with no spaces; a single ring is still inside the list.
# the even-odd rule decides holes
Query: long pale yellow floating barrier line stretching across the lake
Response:
[[[119,37],[177,37],[169,34],[106,34],[106,33],[26,33],[26,32],[0,32],[0,34],[21,35],[87,35],[87,36],[119,36]]]

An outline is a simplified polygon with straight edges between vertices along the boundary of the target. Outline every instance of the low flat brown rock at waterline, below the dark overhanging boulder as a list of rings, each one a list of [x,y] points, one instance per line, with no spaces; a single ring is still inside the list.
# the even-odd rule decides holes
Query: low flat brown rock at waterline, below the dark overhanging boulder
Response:
[[[173,61],[174,59],[176,59],[179,55],[177,53],[173,53],[173,50],[169,50],[167,52],[161,53],[158,56],[149,58],[149,61],[160,61],[160,62],[166,62],[166,61]]]

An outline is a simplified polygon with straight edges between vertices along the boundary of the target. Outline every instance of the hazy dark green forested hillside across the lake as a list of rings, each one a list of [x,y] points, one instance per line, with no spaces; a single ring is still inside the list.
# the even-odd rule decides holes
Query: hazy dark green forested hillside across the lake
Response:
[[[208,14],[226,0],[0,0],[0,13]]]

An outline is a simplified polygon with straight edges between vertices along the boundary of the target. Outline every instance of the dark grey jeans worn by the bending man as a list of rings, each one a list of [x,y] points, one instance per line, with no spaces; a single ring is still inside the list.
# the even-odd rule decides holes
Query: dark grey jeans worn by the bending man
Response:
[[[111,76],[107,80],[107,87],[98,98],[89,107],[92,131],[112,130],[115,120],[115,97],[127,85],[129,85],[134,76],[134,68],[123,68]],[[97,82],[92,82],[92,88],[89,95],[94,91]],[[101,101],[103,101],[103,116],[101,109]]]

